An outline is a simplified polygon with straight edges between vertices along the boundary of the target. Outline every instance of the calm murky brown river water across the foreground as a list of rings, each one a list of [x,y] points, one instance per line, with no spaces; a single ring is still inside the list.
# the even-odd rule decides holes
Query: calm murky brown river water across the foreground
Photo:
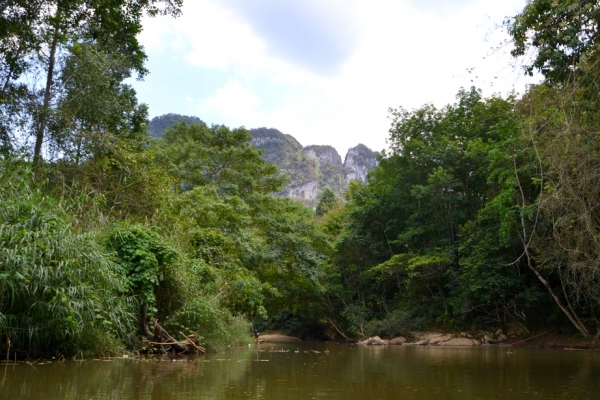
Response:
[[[600,398],[598,352],[267,346],[175,361],[157,357],[0,364],[0,399]]]

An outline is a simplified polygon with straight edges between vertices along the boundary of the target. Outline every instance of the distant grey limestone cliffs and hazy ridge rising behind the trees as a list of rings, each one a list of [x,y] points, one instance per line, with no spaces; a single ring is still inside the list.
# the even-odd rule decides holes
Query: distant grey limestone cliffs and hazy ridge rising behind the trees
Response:
[[[153,118],[148,132],[160,137],[169,126],[180,121],[204,123],[197,117],[167,114]],[[378,153],[364,144],[349,149],[342,163],[342,158],[331,146],[302,147],[291,135],[273,128],[250,129],[248,132],[252,135],[252,145],[263,150],[263,158],[277,165],[290,178],[280,196],[310,207],[317,205],[325,188],[330,188],[341,198],[351,180],[366,182],[367,172],[377,166]]]

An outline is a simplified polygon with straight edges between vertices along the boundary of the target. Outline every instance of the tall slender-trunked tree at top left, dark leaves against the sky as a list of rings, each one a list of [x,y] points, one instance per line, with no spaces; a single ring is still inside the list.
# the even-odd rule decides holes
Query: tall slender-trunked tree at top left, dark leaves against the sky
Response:
[[[41,160],[48,127],[58,112],[53,102],[63,89],[58,76],[69,52],[76,48],[74,44],[91,43],[107,57],[116,55],[126,67],[122,79],[132,72],[143,77],[147,73],[143,65],[146,55],[137,40],[142,16],[178,15],[181,4],[182,0],[39,0],[2,4],[2,24],[18,20],[22,21],[19,27],[28,27],[15,27],[0,35],[0,47],[11,42],[22,44],[21,51],[13,51],[3,60],[12,71],[6,74],[7,82],[17,81],[23,73],[43,76],[30,94],[39,99],[32,102],[29,110],[35,137],[34,162]]]

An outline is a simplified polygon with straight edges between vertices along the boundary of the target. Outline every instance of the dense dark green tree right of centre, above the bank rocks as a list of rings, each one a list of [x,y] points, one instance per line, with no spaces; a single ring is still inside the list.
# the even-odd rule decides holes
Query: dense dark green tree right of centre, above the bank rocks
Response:
[[[328,307],[344,317],[338,327],[362,335],[399,333],[399,323],[502,324],[519,318],[511,307],[531,303],[517,299],[525,280],[537,287],[524,262],[506,267],[522,250],[507,180],[523,160],[511,151],[527,148],[515,102],[471,89],[442,109],[392,110],[392,153],[368,185],[351,185],[335,238]]]

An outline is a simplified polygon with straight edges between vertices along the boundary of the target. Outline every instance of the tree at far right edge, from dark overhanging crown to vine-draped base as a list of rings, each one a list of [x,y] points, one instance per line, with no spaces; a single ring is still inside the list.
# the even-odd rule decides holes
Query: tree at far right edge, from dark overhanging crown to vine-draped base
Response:
[[[597,287],[595,237],[598,124],[598,26],[593,1],[529,3],[510,21],[513,55],[536,50],[526,66],[545,76],[521,102],[522,131],[536,151],[536,180],[541,190],[537,224],[523,227],[525,253],[555,303],[584,336],[600,329],[595,317]],[[523,202],[524,203],[524,202]],[[525,225],[525,224],[523,224]]]

